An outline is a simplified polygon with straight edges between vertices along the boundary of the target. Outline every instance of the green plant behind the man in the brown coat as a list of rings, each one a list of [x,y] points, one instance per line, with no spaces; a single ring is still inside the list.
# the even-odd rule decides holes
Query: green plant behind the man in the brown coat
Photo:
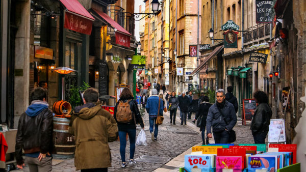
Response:
[[[86,89],[90,88],[89,83],[83,82],[83,85],[81,87],[75,86],[75,85],[69,85],[69,103],[71,104],[72,109],[74,109],[75,106],[82,105],[82,100],[79,94],[79,91],[83,92]]]

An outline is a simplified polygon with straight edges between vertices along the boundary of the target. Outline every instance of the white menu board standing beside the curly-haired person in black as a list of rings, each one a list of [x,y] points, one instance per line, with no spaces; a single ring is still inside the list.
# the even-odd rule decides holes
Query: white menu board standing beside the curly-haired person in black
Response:
[[[268,141],[286,142],[284,119],[273,119],[270,121]]]

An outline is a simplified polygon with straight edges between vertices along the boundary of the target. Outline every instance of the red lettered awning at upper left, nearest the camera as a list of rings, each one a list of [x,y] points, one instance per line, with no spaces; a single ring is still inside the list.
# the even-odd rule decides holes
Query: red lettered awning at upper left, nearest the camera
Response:
[[[68,10],[65,13],[64,27],[75,32],[90,35],[94,18],[82,4],[78,0],[60,0],[60,2]]]

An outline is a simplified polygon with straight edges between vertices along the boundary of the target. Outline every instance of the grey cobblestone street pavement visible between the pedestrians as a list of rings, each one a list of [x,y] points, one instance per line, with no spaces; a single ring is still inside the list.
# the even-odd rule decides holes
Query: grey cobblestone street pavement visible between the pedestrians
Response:
[[[145,123],[145,133],[147,136],[147,146],[136,146],[134,159],[142,156],[157,156],[173,159],[194,145],[201,143],[201,135],[199,129],[191,123],[192,120],[188,120],[187,126],[181,125],[180,111],[176,113],[176,125],[170,124],[169,112],[164,113],[164,123],[159,126],[158,141],[151,141],[149,132],[149,121],[148,114],[145,113],[143,120]],[[192,119],[194,118],[194,114]],[[237,141],[234,144],[253,143],[250,125],[247,123],[246,126],[241,125],[242,122],[238,121],[234,130],[237,134]],[[137,135],[140,132],[140,126],[137,126]],[[179,132],[179,133],[177,133]],[[180,132],[186,132],[182,134]],[[213,143],[213,139],[210,139],[210,143]],[[150,163],[150,162],[137,162],[134,165],[127,164],[125,168],[121,168],[121,158],[119,153],[119,141],[109,143],[112,153],[112,167],[109,167],[109,171],[154,171],[157,168],[164,166],[166,163]],[[126,160],[130,156],[130,144],[127,142],[126,145]],[[103,156],[101,156],[103,158]],[[53,171],[75,171],[74,161],[72,159],[61,159],[63,162],[53,165]],[[166,165],[167,166],[167,165]],[[170,168],[169,168],[170,169]],[[28,167],[23,170],[12,170],[12,171],[29,171]]]

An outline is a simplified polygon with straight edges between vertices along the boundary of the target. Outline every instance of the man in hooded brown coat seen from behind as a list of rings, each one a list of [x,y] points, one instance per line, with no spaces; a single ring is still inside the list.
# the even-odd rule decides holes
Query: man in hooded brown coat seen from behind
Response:
[[[95,89],[85,90],[83,97],[85,104],[74,108],[69,127],[75,136],[74,165],[81,171],[107,171],[112,164],[108,142],[118,136],[117,123],[97,104],[99,94]]]

